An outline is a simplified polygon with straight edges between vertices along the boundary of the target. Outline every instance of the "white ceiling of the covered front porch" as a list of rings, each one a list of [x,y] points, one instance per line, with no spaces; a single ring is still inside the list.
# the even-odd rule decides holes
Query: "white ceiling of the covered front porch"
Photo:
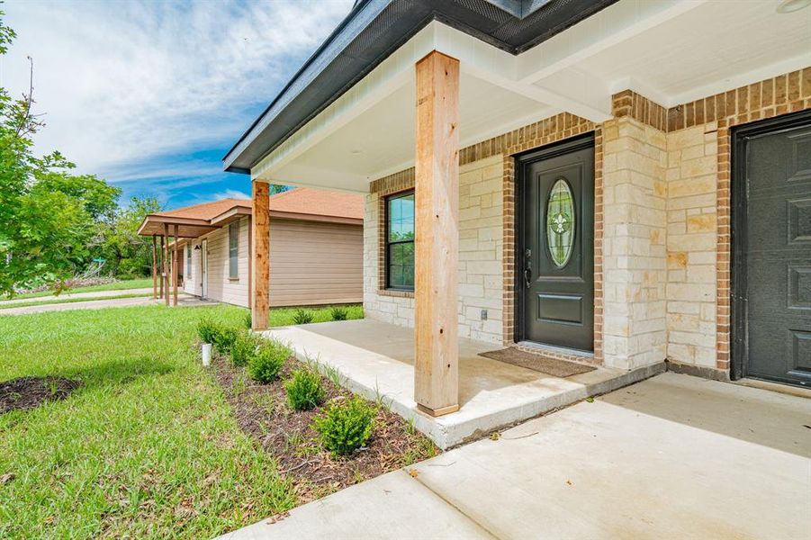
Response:
[[[672,106],[811,65],[811,8],[778,4],[621,0],[518,56],[433,22],[251,175],[365,193],[413,166],[414,65],[431,50],[460,60],[462,147],[558,112],[606,121],[626,88]]]

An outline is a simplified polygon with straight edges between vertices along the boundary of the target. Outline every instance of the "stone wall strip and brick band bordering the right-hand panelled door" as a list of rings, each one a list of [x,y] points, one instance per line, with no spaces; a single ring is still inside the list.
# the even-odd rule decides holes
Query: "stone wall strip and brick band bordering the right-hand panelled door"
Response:
[[[668,358],[726,371],[732,339],[731,129],[811,109],[811,67],[667,110],[626,90],[614,96],[614,107],[615,115],[667,131]]]

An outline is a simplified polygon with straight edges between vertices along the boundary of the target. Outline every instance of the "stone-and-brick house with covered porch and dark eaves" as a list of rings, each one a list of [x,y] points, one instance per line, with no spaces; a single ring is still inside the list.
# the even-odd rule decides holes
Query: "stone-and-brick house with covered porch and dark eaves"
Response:
[[[224,166],[364,194],[429,414],[459,337],[808,386],[806,4],[360,1]]]

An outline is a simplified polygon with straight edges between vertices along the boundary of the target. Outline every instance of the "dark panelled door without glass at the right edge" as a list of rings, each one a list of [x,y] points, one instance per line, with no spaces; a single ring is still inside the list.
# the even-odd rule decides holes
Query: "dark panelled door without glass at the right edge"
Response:
[[[735,131],[736,375],[811,386],[811,114]]]

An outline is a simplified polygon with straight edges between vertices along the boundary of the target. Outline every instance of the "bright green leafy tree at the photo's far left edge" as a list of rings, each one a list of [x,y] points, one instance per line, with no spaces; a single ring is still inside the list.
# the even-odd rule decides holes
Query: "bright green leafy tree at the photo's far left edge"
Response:
[[[16,34],[2,15],[5,54]],[[33,104],[33,85],[16,100],[0,88],[0,294],[39,284],[59,291],[90,262],[121,193],[94,175],[71,175],[74,165],[59,152],[33,155],[32,136],[44,127]]]

